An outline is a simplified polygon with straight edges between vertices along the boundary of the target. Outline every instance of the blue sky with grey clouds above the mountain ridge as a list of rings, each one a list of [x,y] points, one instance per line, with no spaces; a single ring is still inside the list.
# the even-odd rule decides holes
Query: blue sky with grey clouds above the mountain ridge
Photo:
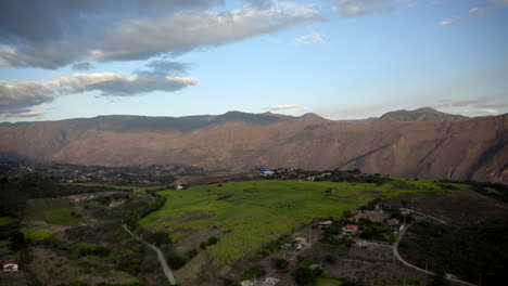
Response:
[[[508,0],[2,0],[0,121],[508,112]]]

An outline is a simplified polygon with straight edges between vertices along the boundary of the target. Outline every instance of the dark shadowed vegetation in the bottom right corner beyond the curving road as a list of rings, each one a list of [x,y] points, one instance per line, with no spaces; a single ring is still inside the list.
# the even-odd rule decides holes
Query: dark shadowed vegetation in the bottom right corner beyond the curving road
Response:
[[[408,229],[399,244],[401,255],[433,271],[453,273],[462,280],[491,285],[507,281],[508,219],[490,220],[469,226],[420,221]],[[495,257],[495,259],[493,259]]]

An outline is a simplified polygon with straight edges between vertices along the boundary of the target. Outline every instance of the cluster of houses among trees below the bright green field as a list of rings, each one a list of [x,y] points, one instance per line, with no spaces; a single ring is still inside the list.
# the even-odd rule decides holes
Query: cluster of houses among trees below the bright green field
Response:
[[[386,246],[391,249],[401,231],[407,223],[415,220],[414,214],[409,208],[391,208],[380,204],[369,204],[359,208],[356,213],[348,211],[343,213],[341,219],[316,220],[289,238],[280,239],[279,250],[270,255],[274,257],[271,261],[299,264],[299,260],[303,259],[304,253],[313,252],[317,243],[355,248],[357,249],[355,251],[368,251],[378,246]],[[331,259],[330,256],[326,256],[322,261],[328,259]],[[327,263],[314,261],[308,262],[305,266],[310,273],[323,273]],[[284,271],[275,271],[266,276],[243,280],[240,285],[283,285],[280,283],[283,281],[281,274],[284,275]]]

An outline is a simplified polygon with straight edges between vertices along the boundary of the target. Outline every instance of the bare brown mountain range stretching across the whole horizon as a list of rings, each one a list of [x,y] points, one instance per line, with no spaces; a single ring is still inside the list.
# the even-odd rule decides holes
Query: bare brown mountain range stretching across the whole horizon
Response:
[[[508,182],[508,115],[445,116],[459,119],[448,120],[441,113],[430,116],[432,109],[421,110],[414,110],[420,114],[416,117],[389,113],[364,123],[332,121],[315,114],[240,112],[1,123],[0,158],[237,170],[357,168],[392,176]]]

